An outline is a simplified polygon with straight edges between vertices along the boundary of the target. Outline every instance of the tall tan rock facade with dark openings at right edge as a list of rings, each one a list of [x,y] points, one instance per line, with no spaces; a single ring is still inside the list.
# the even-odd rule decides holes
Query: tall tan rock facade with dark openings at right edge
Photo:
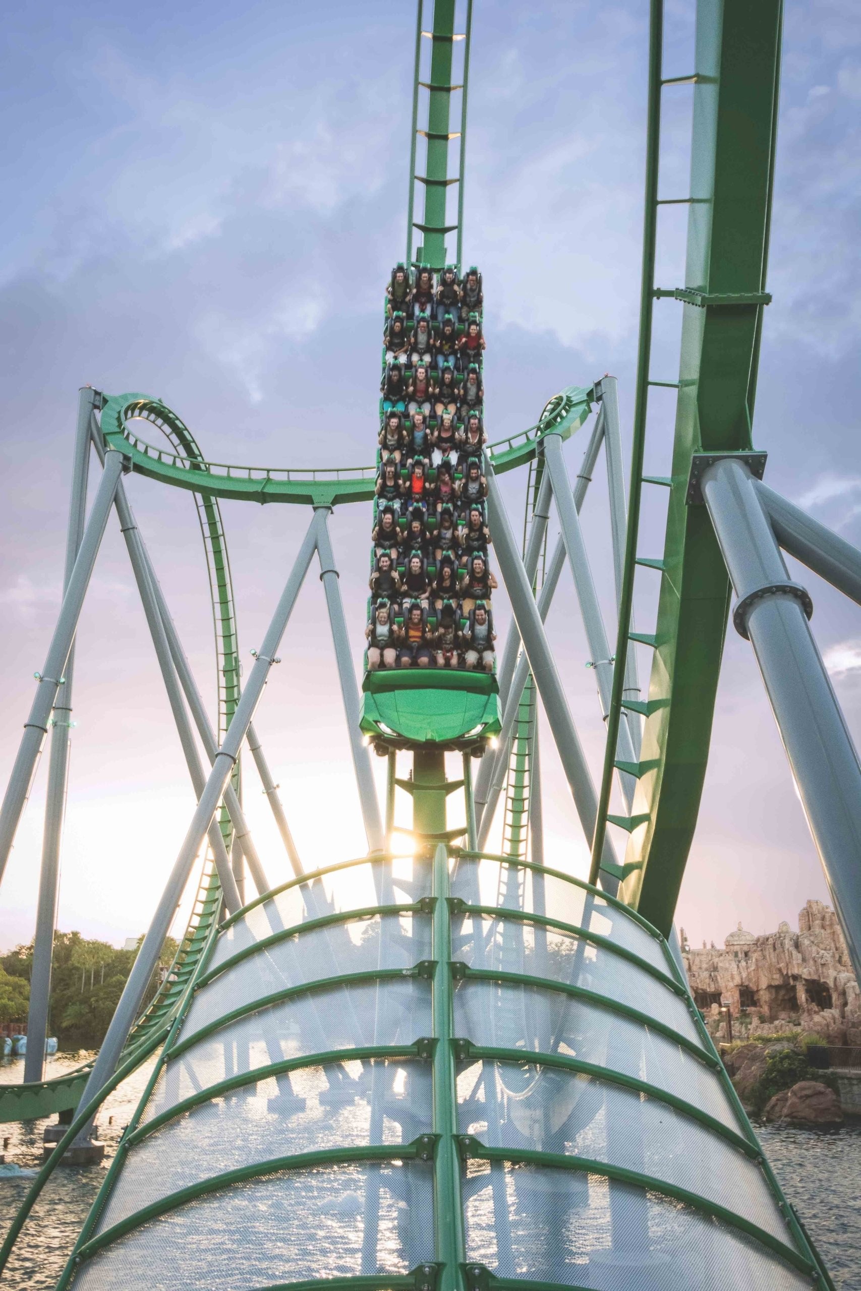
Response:
[[[861,991],[836,915],[822,901],[808,901],[798,932],[781,923],[777,932],[754,936],[738,924],[723,949],[694,949],[682,930],[682,953],[693,998],[710,1021],[733,1034],[768,1035],[798,1029],[821,1035],[824,1044],[861,1046]]]

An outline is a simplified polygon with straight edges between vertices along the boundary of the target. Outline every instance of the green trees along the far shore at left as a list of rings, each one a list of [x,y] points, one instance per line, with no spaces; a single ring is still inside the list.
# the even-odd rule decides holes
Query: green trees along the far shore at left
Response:
[[[59,1048],[98,1048],[114,1010],[132,971],[132,964],[141,946],[134,950],[117,950],[107,941],[81,937],[80,932],[54,933],[54,961],[50,984],[49,1034],[56,1034]],[[177,951],[173,937],[165,940],[159,957],[159,966],[168,967]],[[32,968],[32,942],[15,946],[0,955],[0,1021],[19,1021],[27,1016],[30,994],[30,973]],[[6,989],[6,982],[14,986]],[[159,985],[159,973],[145,995],[146,1004]],[[5,1017],[3,1010],[22,999],[19,1012]]]

